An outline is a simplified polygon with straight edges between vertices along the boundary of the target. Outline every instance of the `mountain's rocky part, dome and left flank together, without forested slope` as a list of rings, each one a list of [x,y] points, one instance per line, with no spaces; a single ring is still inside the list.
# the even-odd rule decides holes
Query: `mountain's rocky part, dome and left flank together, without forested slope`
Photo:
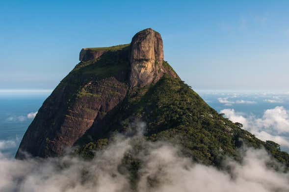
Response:
[[[163,66],[162,39],[151,28],[138,32],[131,44],[83,48],[79,60],[39,109],[16,158],[24,158],[23,152],[38,157],[63,154],[89,129],[98,127],[130,87],[156,83],[164,73],[177,77]]]

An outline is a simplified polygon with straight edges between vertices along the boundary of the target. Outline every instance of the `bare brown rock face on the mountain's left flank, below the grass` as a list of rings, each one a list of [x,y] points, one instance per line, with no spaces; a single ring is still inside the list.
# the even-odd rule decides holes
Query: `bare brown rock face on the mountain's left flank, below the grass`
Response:
[[[103,87],[105,89],[102,89]],[[29,126],[22,140],[21,150],[39,157],[62,154],[64,149],[72,146],[95,121],[101,120],[105,113],[123,100],[127,90],[127,85],[110,77],[84,85],[69,107],[62,103],[64,94],[67,93],[57,93],[58,98],[53,94]],[[21,153],[17,153],[17,157],[21,157]]]

